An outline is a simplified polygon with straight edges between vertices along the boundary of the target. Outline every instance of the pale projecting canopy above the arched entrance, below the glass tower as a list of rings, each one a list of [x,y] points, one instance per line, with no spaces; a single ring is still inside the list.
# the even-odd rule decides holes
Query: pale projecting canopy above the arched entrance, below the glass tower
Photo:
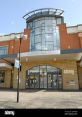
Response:
[[[38,62],[38,61],[61,61],[61,60],[81,60],[82,53],[59,54],[59,51],[44,52],[24,52],[20,54],[21,62]],[[19,57],[19,55],[17,56]]]

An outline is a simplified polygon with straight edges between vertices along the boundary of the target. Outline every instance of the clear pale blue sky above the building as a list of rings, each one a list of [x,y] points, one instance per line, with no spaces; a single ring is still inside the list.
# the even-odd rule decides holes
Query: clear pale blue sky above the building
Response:
[[[64,10],[67,26],[82,24],[82,0],[0,0],[0,35],[23,32],[22,16],[39,8]]]

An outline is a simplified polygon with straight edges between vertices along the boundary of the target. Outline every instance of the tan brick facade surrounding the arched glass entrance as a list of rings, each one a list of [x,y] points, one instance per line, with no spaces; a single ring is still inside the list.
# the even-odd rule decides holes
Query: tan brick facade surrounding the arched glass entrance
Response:
[[[60,68],[62,70],[62,78],[63,78],[63,90],[70,89],[70,90],[78,90],[78,74],[77,74],[77,64],[76,61],[59,61],[59,62],[53,62],[53,61],[38,61],[36,63],[34,62],[23,62],[22,63],[22,71],[20,73],[20,88],[25,89],[25,80],[26,80],[26,70],[38,66],[38,65],[51,65],[53,67]],[[74,70],[74,74],[65,74],[64,70]],[[13,78],[13,88],[17,87],[17,70],[14,71],[14,78]],[[70,85],[70,81],[75,81],[75,85]]]

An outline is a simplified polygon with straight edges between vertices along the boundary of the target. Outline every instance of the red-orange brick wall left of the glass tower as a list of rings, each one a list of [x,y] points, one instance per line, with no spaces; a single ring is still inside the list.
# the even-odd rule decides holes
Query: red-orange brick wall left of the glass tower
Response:
[[[21,41],[21,52],[28,52],[30,48],[30,30],[24,29],[24,35],[27,35],[27,38],[23,37]],[[0,42],[0,46],[8,46],[8,53],[15,54],[19,52],[20,41],[19,39],[9,40]]]

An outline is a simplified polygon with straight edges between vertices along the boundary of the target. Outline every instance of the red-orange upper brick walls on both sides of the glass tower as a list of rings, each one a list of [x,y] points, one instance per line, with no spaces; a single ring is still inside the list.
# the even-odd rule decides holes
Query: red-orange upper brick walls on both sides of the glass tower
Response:
[[[59,32],[60,32],[60,47],[62,50],[68,49],[80,49],[82,48],[82,37],[76,34],[68,34],[66,24],[59,25]],[[21,41],[21,52],[29,52],[30,48],[30,30],[24,29],[24,36]],[[20,42],[19,39],[0,42],[0,46],[8,45],[9,54],[14,54],[19,52]]]

